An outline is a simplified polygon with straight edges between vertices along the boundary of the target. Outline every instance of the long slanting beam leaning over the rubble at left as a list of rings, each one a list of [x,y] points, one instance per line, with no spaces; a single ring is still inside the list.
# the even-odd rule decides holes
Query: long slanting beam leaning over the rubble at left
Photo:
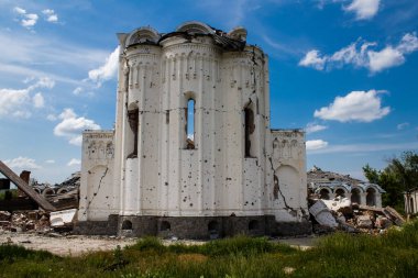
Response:
[[[34,200],[42,209],[46,211],[56,211],[54,205],[40,196],[32,187],[30,187],[23,179],[15,175],[3,162],[0,160],[0,171],[10,179],[16,187],[22,190],[26,196]]]

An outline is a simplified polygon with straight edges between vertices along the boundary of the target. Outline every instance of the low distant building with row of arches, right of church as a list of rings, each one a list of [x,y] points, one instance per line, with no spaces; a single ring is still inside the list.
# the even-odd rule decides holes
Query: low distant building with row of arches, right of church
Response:
[[[359,204],[382,208],[382,193],[385,190],[378,185],[354,179],[349,175],[323,171],[316,166],[308,171],[307,179],[309,193],[317,194],[320,199],[331,200],[341,196]]]

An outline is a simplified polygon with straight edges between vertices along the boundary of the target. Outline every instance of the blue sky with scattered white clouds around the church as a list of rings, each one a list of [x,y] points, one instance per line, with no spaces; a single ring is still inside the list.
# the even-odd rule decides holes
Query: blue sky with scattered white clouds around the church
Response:
[[[307,130],[307,168],[362,177],[418,149],[418,1],[0,0],[0,159],[40,181],[79,170],[80,133],[112,129],[116,33],[197,20],[270,56],[273,129]]]

